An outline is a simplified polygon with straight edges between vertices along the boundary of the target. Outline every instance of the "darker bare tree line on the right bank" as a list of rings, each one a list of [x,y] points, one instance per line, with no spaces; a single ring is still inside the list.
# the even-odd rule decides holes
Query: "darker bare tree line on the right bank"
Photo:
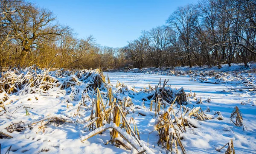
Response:
[[[166,25],[143,31],[125,50],[139,68],[220,68],[234,62],[247,67],[256,59],[256,1],[201,0],[180,6]]]

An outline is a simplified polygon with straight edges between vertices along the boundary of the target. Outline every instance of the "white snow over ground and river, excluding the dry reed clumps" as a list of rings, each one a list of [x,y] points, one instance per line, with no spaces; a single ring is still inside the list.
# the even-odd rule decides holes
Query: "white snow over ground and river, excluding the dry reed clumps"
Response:
[[[28,77],[32,76],[33,73],[29,71],[25,70],[23,74]],[[101,129],[95,129],[94,132],[85,127],[90,123],[91,98],[96,98],[93,92],[88,90],[88,87],[93,83],[93,73],[93,71],[80,71],[75,75],[70,75],[70,73],[60,75],[61,73],[58,73],[58,71],[50,72],[52,80],[56,82],[49,84],[49,81],[35,79],[35,82],[39,83],[39,87],[45,84],[51,85],[47,91],[38,90],[38,87],[32,87],[31,84],[24,86],[23,89],[13,94],[2,91],[0,93],[0,103],[2,103],[0,107],[1,152],[5,153],[10,149],[9,154],[138,153],[135,148],[128,144],[126,146],[130,147],[131,150],[108,143],[111,140],[111,129],[84,140],[94,132],[99,132],[104,128],[111,127],[121,134],[126,133],[124,129],[117,127],[114,123],[106,123]],[[223,91],[233,85],[190,81],[191,78],[184,76],[147,73],[104,73],[104,75],[109,76],[111,84],[113,84],[113,92],[116,92],[117,97],[120,97],[119,99],[128,97],[128,94],[121,93],[118,91],[119,88],[115,88],[117,81],[128,85],[125,87],[127,89],[131,90],[132,87],[135,87],[136,90],[140,91],[144,87],[148,88],[148,84],[154,88],[160,78],[162,81],[169,79],[167,84],[171,85],[174,90],[183,87],[186,94],[191,93],[193,95],[195,92],[196,96],[194,98],[197,100],[201,98],[203,104],[196,104],[197,101],[193,97],[188,97],[189,104],[186,107],[193,109],[193,107],[200,106],[207,117],[211,118],[208,120],[188,119],[197,128],[186,126],[186,132],[180,132],[181,142],[187,154],[224,153],[228,146],[225,146],[220,152],[215,149],[222,148],[230,142],[230,139],[233,139],[236,154],[256,154],[256,93]],[[44,71],[37,71],[36,76],[44,78]],[[92,77],[87,78],[87,76]],[[107,92],[106,89],[102,88],[100,93],[104,95]],[[147,154],[169,153],[161,144],[157,144],[159,135],[154,130],[158,118],[154,116],[155,112],[148,111],[150,101],[145,101],[144,108],[143,101],[139,98],[143,95],[144,93],[140,93],[140,95],[135,95],[132,98],[134,106],[137,107],[130,107],[130,110],[128,109],[129,114],[126,115],[128,121],[134,118],[137,124],[142,145],[138,149],[144,149]],[[208,98],[211,98],[210,102],[206,101]],[[103,98],[104,101],[105,99]],[[244,105],[241,105],[241,102]],[[85,105],[82,105],[83,103]],[[235,106],[238,106],[243,114],[244,126],[239,127],[230,123],[230,115]],[[206,112],[208,108],[210,112]],[[28,111],[26,112],[25,109]],[[176,110],[178,112],[178,108]],[[161,109],[161,114],[163,114],[163,111]],[[219,118],[218,115],[214,115],[216,111],[221,112],[223,117]],[[145,116],[139,114],[139,112]],[[133,125],[131,126],[133,127]],[[127,133],[124,136],[130,142],[136,142],[134,137],[127,135]],[[81,142],[82,140],[84,141]],[[119,137],[119,140],[123,139]],[[124,143],[127,142],[124,141]],[[10,146],[12,147],[10,148]],[[175,153],[175,147],[172,153]],[[182,153],[179,146],[178,153]]]

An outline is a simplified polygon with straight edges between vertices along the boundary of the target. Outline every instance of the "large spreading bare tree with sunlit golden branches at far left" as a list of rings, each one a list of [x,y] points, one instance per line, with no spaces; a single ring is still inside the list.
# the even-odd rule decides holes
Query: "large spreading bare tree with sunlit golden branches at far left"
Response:
[[[20,9],[15,14],[9,14],[6,17],[9,27],[12,29],[11,34],[17,42],[22,46],[20,53],[19,64],[23,65],[26,57],[32,48],[36,47],[37,39],[49,39],[51,40],[56,35],[61,35],[69,28],[63,27],[58,23],[55,24],[56,19],[52,12],[44,9],[37,8],[32,3],[26,3],[23,0],[5,0],[10,3],[6,3],[3,9],[12,8],[18,10],[20,6],[26,6],[24,9]]]

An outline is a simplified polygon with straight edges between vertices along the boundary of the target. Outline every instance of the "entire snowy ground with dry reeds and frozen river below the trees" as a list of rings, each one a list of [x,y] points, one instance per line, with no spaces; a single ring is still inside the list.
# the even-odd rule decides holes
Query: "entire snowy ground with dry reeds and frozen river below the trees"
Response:
[[[255,153],[255,73],[250,71],[166,76],[35,66],[6,70],[0,78],[1,150]]]

